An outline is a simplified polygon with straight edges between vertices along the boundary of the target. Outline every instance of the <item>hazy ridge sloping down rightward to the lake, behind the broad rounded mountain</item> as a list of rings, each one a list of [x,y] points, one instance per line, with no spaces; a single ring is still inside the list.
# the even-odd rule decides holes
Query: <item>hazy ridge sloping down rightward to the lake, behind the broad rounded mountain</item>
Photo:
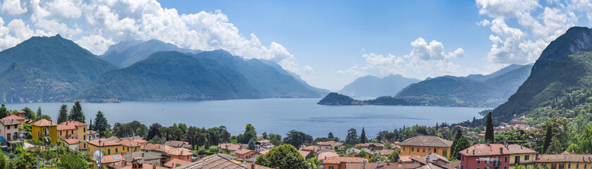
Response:
[[[201,60],[213,60],[229,70],[234,70],[247,78],[257,91],[264,97],[299,98],[299,97],[321,97],[319,92],[307,87],[308,85],[298,82],[285,70],[278,71],[278,68],[264,63],[259,59],[245,60],[240,56],[233,56],[228,51],[204,51],[195,54]]]

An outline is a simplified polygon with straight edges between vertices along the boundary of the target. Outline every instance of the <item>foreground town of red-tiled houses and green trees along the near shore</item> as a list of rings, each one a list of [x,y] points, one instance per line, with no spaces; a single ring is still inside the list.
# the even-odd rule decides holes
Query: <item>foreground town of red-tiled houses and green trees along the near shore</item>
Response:
[[[69,111],[61,106],[56,121],[41,108],[7,110],[2,105],[0,116],[0,168],[99,168],[97,163],[100,168],[153,169],[592,167],[592,155],[572,146],[564,149],[557,137],[549,137],[573,121],[569,118],[528,125],[522,116],[493,127],[489,113],[470,123],[415,125],[376,137],[352,128],[341,139],[332,132],[313,138],[296,130],[283,137],[258,133],[253,125],[236,135],[224,126],[111,125],[100,111],[86,120],[78,101]],[[93,156],[97,150],[104,155],[100,162]]]

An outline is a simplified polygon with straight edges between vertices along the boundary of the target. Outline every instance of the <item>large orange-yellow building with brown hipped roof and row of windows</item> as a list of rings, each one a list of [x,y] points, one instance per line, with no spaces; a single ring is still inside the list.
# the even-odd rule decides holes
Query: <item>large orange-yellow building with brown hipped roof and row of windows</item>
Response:
[[[452,142],[436,136],[418,135],[405,139],[398,145],[401,146],[400,156],[426,156],[430,153],[436,153],[448,158],[450,157]]]

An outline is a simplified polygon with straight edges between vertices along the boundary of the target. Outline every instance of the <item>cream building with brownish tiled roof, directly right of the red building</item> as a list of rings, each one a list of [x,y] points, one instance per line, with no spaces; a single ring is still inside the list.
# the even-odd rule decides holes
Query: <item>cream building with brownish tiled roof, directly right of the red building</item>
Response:
[[[519,165],[534,168],[536,151],[519,144],[507,145],[506,149],[510,151],[510,169],[514,169]]]

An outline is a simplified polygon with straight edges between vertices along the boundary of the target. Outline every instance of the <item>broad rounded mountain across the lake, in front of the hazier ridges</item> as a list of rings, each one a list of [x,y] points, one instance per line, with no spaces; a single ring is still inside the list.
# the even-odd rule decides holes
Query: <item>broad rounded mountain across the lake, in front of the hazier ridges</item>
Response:
[[[128,68],[101,75],[80,97],[91,101],[255,99],[261,92],[245,76],[215,61],[161,51]]]

